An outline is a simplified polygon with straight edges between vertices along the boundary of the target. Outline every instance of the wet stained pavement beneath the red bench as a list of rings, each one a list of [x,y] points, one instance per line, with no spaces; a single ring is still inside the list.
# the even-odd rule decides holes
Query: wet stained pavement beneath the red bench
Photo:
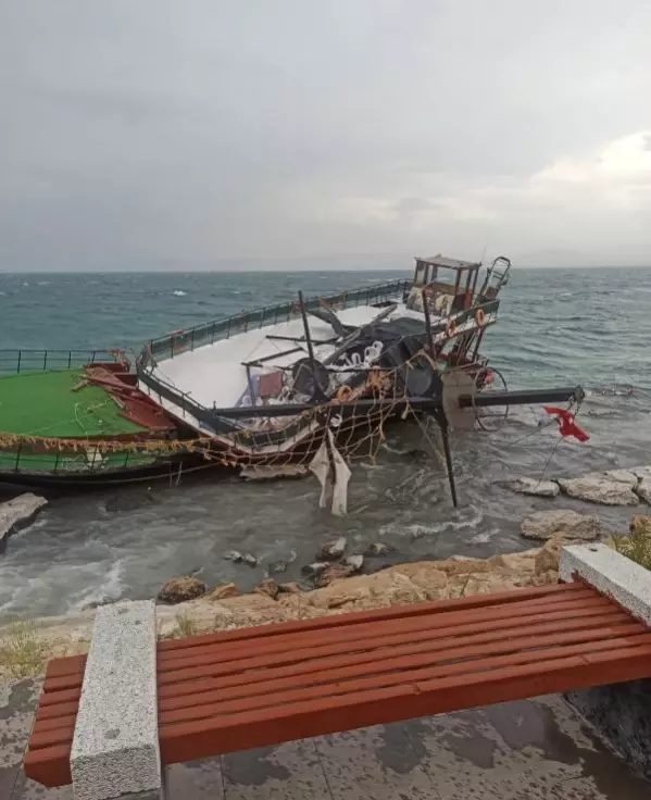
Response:
[[[0,800],[72,800],[21,760],[39,683],[0,684]],[[560,697],[176,765],[170,800],[651,800]]]

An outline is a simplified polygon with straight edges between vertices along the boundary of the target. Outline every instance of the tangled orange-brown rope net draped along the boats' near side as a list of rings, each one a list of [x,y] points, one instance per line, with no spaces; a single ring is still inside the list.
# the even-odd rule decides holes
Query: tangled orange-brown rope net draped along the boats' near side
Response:
[[[416,371],[420,376],[415,375]],[[359,459],[375,461],[386,441],[385,427],[389,422],[422,415],[422,411],[410,405],[410,387],[417,384],[414,376],[418,378],[427,372],[434,382],[438,375],[437,365],[426,350],[421,350],[396,368],[370,367],[359,386],[346,387],[347,391],[340,391],[338,398],[290,417],[274,417],[274,407],[270,404],[268,415],[256,417],[253,424],[247,420],[241,428],[226,435],[191,439],[143,435],[138,440],[125,441],[102,437],[58,438],[0,433],[0,455],[7,457],[7,451],[16,453],[16,470],[21,468],[21,453],[27,457],[24,470],[28,470],[29,457],[43,453],[61,453],[62,471],[104,472],[158,460],[176,463],[189,455],[205,461],[206,465],[281,470],[290,465],[306,467],[329,429],[337,450],[349,463]],[[360,400],[364,403],[358,405]],[[73,459],[74,464],[64,465],[66,458],[76,453],[92,453],[92,459],[84,461],[77,458]],[[115,458],[102,458],[113,454],[124,454],[124,463],[116,463]]]

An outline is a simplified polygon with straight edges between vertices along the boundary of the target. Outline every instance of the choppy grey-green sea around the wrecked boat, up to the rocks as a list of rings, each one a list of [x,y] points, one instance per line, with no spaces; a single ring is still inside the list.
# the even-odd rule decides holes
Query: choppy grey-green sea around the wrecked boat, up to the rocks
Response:
[[[0,350],[125,348],[242,309],[328,295],[398,272],[0,274]],[[278,562],[301,579],[317,546],[343,535],[349,551],[375,541],[396,561],[487,557],[535,545],[519,523],[536,510],[598,513],[625,530],[631,509],[587,507],[505,489],[512,477],[576,476],[651,464],[651,268],[513,268],[484,353],[509,388],[581,385],[577,423],[590,439],[561,439],[541,405],[509,410],[489,430],[452,436],[459,508],[450,500],[429,427],[406,423],[352,465],[349,513],[318,508],[314,478],[250,483],[184,479],[51,499],[0,554],[0,617],[76,614],[93,603],[157,593],[185,574],[245,591]],[[0,397],[0,429],[2,398]],[[256,557],[254,567],[225,558]],[[368,562],[371,568],[383,560]]]

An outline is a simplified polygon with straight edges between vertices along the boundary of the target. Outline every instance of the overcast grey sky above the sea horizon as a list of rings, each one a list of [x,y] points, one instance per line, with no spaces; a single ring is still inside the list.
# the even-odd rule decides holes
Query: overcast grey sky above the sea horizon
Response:
[[[0,0],[0,270],[651,264],[651,0]]]

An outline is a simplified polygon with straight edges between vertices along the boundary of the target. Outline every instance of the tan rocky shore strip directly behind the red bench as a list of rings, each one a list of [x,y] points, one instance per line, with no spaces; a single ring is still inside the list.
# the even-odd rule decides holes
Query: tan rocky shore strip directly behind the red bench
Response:
[[[558,580],[560,547],[561,540],[552,538],[542,548],[490,559],[453,558],[397,564],[372,575],[334,577],[326,586],[309,591],[301,590],[297,584],[277,584],[267,578],[253,592],[239,595],[234,584],[206,590],[197,586],[197,578],[176,578],[166,585],[167,599],[172,590],[176,590],[177,598],[181,591],[190,595],[200,591],[201,596],[177,604],[160,604],[159,636],[172,638],[540,586]],[[0,677],[38,674],[48,659],[86,652],[95,613],[88,609],[76,617],[39,620],[27,629],[15,624],[0,628]]]

